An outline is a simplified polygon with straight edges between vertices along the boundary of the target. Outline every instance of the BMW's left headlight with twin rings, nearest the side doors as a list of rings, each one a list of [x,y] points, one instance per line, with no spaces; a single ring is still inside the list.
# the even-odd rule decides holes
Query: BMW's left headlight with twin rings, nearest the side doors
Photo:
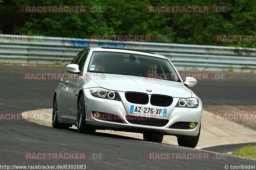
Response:
[[[107,89],[103,89],[100,87],[90,88],[90,92],[92,96],[99,97],[103,99],[112,99],[112,100],[120,100],[119,95],[116,91],[111,91]]]

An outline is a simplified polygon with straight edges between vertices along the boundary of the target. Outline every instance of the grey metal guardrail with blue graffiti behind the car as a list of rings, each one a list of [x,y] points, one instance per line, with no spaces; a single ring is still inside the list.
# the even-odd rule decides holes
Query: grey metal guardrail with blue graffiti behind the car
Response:
[[[8,36],[1,34],[1,36]],[[11,35],[13,36],[13,35]],[[18,35],[20,36],[20,35]],[[135,41],[43,37],[41,41],[1,41],[0,62],[68,64],[86,47],[143,50],[168,57],[178,70],[256,71],[256,49]]]

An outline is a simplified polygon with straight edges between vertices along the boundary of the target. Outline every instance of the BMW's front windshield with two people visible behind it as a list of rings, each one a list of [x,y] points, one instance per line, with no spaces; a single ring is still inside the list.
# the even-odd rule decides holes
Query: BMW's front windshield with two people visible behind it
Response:
[[[168,60],[131,53],[93,52],[87,71],[181,82]]]

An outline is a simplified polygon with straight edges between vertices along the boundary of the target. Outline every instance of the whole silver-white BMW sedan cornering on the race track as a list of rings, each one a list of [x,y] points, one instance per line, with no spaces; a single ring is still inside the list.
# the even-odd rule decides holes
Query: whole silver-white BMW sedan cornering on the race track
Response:
[[[200,135],[202,101],[163,55],[113,48],[86,48],[66,68],[53,98],[53,128],[77,127],[142,133],[162,142],[176,136],[195,148]]]

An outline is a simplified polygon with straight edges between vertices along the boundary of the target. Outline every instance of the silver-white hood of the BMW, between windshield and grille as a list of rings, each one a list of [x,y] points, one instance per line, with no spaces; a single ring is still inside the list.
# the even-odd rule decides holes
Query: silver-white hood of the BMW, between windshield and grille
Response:
[[[182,83],[138,76],[90,73],[89,77],[102,88],[121,92],[162,94],[178,98],[191,97],[191,91]],[[150,89],[151,92],[146,90]]]

